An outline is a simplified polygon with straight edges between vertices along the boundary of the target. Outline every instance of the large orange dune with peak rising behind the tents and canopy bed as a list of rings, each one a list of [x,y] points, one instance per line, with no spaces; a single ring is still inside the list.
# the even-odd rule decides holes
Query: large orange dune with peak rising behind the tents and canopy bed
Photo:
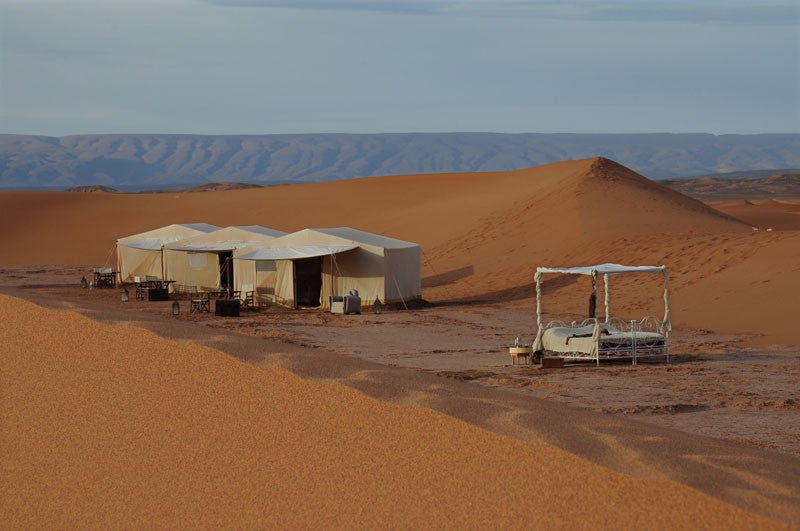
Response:
[[[116,238],[196,221],[285,231],[344,225],[419,242],[423,276],[438,279],[423,291],[430,300],[532,309],[536,266],[666,264],[675,326],[800,344],[787,296],[797,293],[800,230],[753,234],[750,222],[603,158],[195,194],[0,192],[0,265],[114,265]],[[572,293],[562,281],[548,284],[553,278],[545,311],[583,313],[585,282]],[[661,314],[658,282],[615,278],[612,313]]]

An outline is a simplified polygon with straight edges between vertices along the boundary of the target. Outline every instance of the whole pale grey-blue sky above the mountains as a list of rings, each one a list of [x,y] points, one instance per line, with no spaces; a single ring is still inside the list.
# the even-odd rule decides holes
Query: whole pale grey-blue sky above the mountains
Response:
[[[800,0],[0,0],[0,133],[800,132]]]

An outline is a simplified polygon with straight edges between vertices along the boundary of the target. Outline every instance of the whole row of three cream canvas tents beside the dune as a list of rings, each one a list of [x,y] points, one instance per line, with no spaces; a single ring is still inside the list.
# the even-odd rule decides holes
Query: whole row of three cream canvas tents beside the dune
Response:
[[[406,304],[422,294],[421,247],[415,243],[349,227],[286,234],[231,226],[185,238],[173,227],[213,226],[177,225],[118,239],[120,283],[139,288],[157,280],[158,286],[145,289],[162,289],[166,282],[176,293],[251,297],[255,307],[329,309],[334,297],[353,290],[370,304]],[[149,261],[143,264],[142,256]]]

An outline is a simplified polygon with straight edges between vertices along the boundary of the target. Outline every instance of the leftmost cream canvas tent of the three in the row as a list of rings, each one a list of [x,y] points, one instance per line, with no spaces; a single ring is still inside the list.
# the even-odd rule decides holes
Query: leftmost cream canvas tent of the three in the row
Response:
[[[144,279],[164,277],[162,247],[178,240],[206,234],[219,227],[208,223],[180,223],[167,225],[117,240],[117,271],[120,282],[133,282],[134,277]]]

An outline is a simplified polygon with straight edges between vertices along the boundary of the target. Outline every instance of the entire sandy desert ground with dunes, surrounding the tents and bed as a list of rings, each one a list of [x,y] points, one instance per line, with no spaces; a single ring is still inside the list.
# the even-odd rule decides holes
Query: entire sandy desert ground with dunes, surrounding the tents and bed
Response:
[[[798,205],[703,203],[603,158],[0,192],[0,511],[27,528],[799,526]],[[430,304],[174,318],[78,287],[116,238],[192,222],[420,243]],[[671,362],[511,366],[536,267],[604,262],[668,266]],[[660,279],[613,282],[614,315],[663,312]],[[589,289],[548,278],[546,317],[579,318]]]

